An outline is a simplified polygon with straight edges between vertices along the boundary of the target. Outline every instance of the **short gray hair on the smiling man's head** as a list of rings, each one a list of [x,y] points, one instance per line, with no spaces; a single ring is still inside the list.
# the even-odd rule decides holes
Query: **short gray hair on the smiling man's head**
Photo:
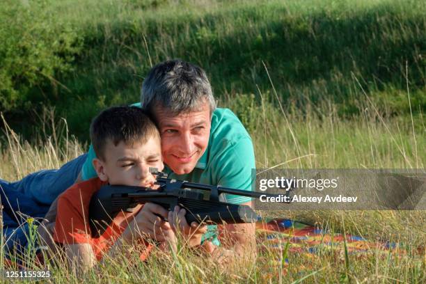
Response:
[[[152,113],[154,107],[167,109],[172,116],[198,111],[207,102],[212,114],[216,102],[205,71],[181,60],[155,65],[143,80],[141,107]]]

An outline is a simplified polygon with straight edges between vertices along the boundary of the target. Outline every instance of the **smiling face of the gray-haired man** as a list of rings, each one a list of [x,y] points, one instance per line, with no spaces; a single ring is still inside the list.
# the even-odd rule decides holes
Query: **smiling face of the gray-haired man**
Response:
[[[161,135],[164,163],[178,175],[191,173],[203,156],[210,137],[210,107],[170,116],[167,109],[156,107],[155,118]]]

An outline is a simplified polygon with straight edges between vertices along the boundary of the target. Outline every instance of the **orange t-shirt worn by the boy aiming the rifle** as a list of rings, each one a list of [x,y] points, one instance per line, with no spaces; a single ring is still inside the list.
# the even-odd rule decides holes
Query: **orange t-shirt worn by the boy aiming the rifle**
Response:
[[[114,218],[114,221],[117,219],[124,220],[120,225],[113,221],[100,237],[91,237],[88,218],[90,199],[105,184],[107,182],[93,178],[74,184],[59,196],[54,231],[55,242],[60,244],[90,244],[96,259],[102,259],[103,254],[107,253],[118,237],[123,234],[128,224],[124,213],[120,212]],[[141,254],[141,260],[145,260],[152,249],[150,244],[145,243],[145,246],[146,249]]]

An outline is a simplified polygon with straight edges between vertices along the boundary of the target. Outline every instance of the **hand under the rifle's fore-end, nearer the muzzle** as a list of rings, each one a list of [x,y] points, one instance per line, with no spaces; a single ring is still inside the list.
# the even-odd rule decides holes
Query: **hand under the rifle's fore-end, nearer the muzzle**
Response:
[[[201,237],[207,232],[207,226],[200,225],[196,222],[192,222],[191,226],[189,226],[187,219],[185,219],[186,213],[186,210],[181,209],[179,206],[175,206],[173,212],[168,212],[168,221],[175,234],[182,234],[187,246],[199,246]]]

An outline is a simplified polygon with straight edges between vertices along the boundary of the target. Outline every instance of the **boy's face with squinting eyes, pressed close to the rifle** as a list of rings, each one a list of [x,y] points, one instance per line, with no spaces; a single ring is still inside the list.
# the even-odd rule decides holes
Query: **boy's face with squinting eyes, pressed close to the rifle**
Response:
[[[164,168],[161,159],[161,144],[158,138],[151,137],[146,143],[126,145],[123,141],[114,145],[111,141],[105,146],[105,161],[93,159],[97,176],[109,184],[139,187],[153,187],[155,178],[150,167]]]

